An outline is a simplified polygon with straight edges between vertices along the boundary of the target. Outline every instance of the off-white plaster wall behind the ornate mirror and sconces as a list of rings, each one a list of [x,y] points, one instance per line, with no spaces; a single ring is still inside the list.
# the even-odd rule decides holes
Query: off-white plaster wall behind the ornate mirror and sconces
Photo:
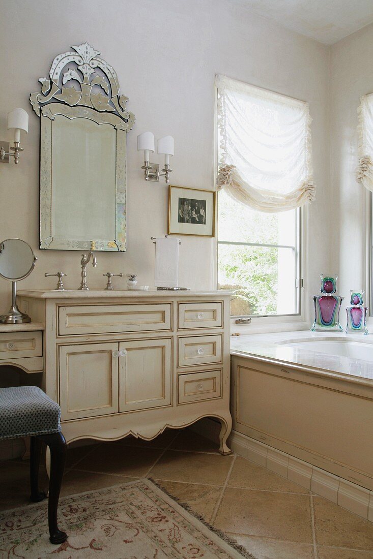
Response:
[[[39,119],[29,94],[48,74],[55,55],[88,41],[118,73],[136,125],[128,134],[128,250],[97,253],[88,285],[104,286],[106,271],[138,273],[152,284],[154,245],[164,235],[167,187],[142,179],[136,135],[172,134],[176,155],[172,183],[214,188],[214,100],[216,73],[310,102],[314,176],[318,197],[309,208],[310,294],[327,269],[329,220],[328,63],[329,48],[283,29],[275,22],[226,0],[12,0],[0,20],[0,138],[10,139],[7,112],[24,107],[30,115],[25,152],[16,168],[0,165],[0,238],[29,241],[39,260],[23,288],[54,287],[44,272],[67,272],[66,286],[78,287],[80,253],[38,250]],[[328,221],[329,220],[329,221]],[[320,249],[320,247],[322,247]],[[215,287],[215,241],[184,237],[180,283]],[[116,286],[124,280],[116,278]],[[0,280],[0,311],[7,310],[10,285]]]

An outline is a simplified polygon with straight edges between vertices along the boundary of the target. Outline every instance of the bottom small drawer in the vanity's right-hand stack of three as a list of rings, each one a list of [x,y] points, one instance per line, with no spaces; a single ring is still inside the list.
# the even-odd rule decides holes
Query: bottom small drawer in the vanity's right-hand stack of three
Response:
[[[220,398],[221,371],[204,371],[178,376],[178,404]]]

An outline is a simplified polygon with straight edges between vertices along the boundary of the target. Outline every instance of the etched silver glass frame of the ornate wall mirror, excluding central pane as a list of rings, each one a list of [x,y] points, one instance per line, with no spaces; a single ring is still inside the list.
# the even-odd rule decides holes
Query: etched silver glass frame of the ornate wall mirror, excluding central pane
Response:
[[[115,70],[87,42],[72,46],[53,60],[49,78],[40,78],[41,93],[30,103],[40,117],[40,248],[54,250],[126,249],[126,134],[135,118],[126,108],[128,97],[119,94]],[[110,124],[116,131],[115,239],[65,239],[52,231],[52,131],[56,115]],[[113,217],[114,219],[114,217]]]

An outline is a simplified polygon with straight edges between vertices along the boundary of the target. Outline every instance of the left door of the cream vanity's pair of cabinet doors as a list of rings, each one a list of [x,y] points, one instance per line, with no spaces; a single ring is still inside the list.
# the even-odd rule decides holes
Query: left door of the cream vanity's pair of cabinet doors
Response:
[[[59,348],[61,419],[118,411],[118,343]]]

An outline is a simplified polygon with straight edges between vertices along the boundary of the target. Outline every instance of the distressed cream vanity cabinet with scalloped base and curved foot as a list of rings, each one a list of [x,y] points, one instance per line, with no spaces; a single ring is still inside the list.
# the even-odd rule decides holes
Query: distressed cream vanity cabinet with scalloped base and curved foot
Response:
[[[229,292],[20,291],[18,301],[43,323],[43,389],[68,443],[152,439],[211,416],[230,452]]]

